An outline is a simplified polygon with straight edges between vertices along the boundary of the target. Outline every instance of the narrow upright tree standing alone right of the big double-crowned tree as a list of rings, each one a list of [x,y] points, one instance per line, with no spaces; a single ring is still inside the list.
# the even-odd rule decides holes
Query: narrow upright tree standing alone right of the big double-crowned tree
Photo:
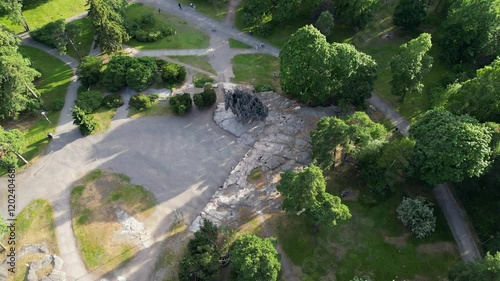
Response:
[[[406,95],[422,94],[422,78],[432,67],[432,57],[427,52],[432,46],[431,35],[422,33],[418,38],[401,45],[399,53],[391,60],[391,92],[404,101]]]

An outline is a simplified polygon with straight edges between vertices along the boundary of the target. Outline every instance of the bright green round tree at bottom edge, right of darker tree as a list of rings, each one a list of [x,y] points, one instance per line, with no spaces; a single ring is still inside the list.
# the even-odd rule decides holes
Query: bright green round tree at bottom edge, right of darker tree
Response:
[[[281,270],[275,239],[240,236],[231,252],[231,269],[241,281],[276,281]]]

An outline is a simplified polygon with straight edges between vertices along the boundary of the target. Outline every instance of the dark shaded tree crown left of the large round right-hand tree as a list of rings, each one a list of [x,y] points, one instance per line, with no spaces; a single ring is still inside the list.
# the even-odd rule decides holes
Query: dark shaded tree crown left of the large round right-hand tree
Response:
[[[409,138],[385,142],[369,142],[355,155],[361,170],[361,177],[368,187],[384,193],[401,182],[409,166],[409,158],[415,142]]]

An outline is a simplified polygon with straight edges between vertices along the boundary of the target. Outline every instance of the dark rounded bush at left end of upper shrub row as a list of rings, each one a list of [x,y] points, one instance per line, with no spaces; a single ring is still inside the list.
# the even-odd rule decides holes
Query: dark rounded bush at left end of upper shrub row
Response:
[[[135,59],[127,56],[113,56],[109,61],[102,79],[103,86],[111,92],[117,92],[127,86],[127,70]]]

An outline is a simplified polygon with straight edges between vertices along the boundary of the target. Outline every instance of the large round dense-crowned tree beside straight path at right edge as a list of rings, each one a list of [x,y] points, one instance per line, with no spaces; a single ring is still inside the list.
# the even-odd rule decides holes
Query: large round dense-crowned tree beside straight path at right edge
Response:
[[[410,128],[414,174],[431,185],[483,174],[491,163],[492,132],[473,117],[429,110]]]

